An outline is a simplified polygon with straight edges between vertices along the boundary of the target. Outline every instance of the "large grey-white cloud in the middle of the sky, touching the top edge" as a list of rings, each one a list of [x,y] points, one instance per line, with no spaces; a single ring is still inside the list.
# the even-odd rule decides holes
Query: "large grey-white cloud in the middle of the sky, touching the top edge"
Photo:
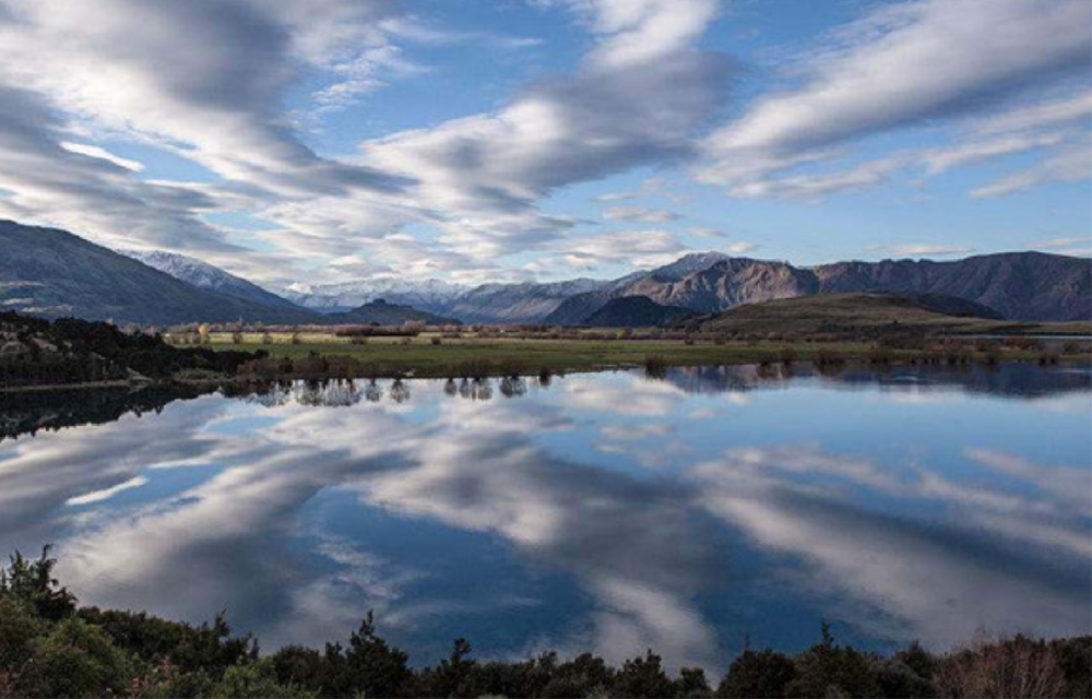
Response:
[[[361,145],[361,162],[416,179],[415,200],[444,212],[441,244],[477,258],[556,240],[572,222],[537,202],[561,187],[685,157],[727,87],[727,59],[688,46],[715,2],[547,4],[571,8],[596,37],[573,74],[496,112]]]

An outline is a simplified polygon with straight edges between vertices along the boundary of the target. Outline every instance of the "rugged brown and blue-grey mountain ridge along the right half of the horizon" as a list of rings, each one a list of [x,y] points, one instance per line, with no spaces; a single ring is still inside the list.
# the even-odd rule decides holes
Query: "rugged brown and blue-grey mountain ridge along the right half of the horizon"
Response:
[[[808,266],[704,252],[615,280],[489,283],[449,289],[442,299],[418,299],[413,305],[467,322],[581,324],[612,299],[626,296],[715,313],[776,298],[886,292],[956,296],[996,308],[1011,319],[1081,320],[1092,316],[1090,269],[1083,258],[1034,251],[951,261],[903,258]],[[388,299],[405,303],[397,296]],[[299,303],[309,305],[306,298]]]

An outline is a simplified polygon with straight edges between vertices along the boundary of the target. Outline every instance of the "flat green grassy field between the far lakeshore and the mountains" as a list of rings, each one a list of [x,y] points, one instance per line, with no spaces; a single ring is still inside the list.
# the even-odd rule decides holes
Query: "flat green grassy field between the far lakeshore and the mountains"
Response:
[[[424,377],[458,375],[470,363],[487,363],[487,371],[500,375],[511,371],[553,372],[586,371],[603,368],[642,366],[656,357],[665,366],[731,365],[761,362],[845,359],[910,360],[923,356],[917,350],[878,350],[871,342],[743,342],[714,343],[699,341],[687,344],[681,340],[538,340],[529,339],[443,339],[434,337],[369,337],[367,344],[352,344],[332,334],[301,333],[296,343],[288,334],[274,334],[272,342],[263,335],[244,334],[241,342],[230,334],[212,333],[214,350],[264,350],[272,357],[304,358],[312,353],[323,356],[349,356],[380,374],[412,372]],[[970,347],[970,345],[969,345]],[[971,352],[971,350],[968,350]],[[974,353],[983,360],[986,353]],[[1000,360],[1037,360],[1036,350],[1005,348],[995,353]],[[1088,354],[1058,357],[1088,359]]]

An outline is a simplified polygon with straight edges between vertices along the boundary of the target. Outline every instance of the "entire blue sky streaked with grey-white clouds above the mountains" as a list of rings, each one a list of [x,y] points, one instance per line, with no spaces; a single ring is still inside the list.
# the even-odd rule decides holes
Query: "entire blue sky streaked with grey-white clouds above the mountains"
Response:
[[[0,0],[0,218],[278,287],[1092,254],[1088,0]]]

